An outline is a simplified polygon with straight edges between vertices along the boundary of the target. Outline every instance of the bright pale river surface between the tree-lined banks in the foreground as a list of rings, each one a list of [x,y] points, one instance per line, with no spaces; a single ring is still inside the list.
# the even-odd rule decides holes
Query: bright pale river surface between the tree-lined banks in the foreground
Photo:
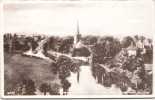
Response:
[[[80,78],[77,81],[77,73],[71,73],[68,81],[71,83],[69,95],[121,95],[122,92],[115,85],[106,88],[103,85],[97,84],[92,76],[90,66],[80,67]]]

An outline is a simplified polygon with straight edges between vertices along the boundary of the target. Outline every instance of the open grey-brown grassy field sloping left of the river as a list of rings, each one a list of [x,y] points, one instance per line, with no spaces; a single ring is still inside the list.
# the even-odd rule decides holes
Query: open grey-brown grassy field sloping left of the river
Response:
[[[21,54],[4,55],[5,89],[10,90],[22,79],[30,78],[39,87],[42,83],[60,83],[51,71],[51,62]]]

